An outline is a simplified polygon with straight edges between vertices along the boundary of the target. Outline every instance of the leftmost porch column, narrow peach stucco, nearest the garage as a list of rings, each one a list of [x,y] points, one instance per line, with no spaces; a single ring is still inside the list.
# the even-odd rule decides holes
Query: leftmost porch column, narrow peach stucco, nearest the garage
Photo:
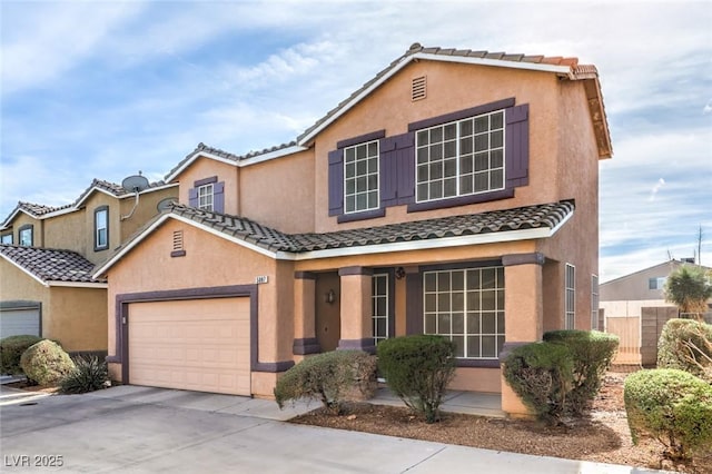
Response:
[[[294,274],[294,355],[304,356],[322,352],[316,338],[316,275],[309,271]]]

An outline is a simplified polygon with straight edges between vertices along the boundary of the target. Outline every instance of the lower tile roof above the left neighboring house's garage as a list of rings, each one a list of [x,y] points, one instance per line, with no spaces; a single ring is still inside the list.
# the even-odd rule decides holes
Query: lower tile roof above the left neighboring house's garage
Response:
[[[71,250],[0,245],[0,256],[44,283],[106,283],[91,277],[93,264]]]

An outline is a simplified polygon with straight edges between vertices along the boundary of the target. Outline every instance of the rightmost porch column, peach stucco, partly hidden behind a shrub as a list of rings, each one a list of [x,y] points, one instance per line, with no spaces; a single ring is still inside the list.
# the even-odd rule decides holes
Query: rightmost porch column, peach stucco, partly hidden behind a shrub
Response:
[[[544,327],[542,267],[545,259],[540,253],[502,257],[505,287],[505,344],[500,354],[501,363],[515,347],[542,339]],[[504,376],[502,376],[502,409],[512,416],[532,416]]]

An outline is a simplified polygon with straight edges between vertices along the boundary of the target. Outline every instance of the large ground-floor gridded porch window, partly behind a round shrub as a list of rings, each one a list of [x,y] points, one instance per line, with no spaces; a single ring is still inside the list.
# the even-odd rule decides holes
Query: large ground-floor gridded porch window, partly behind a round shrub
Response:
[[[455,343],[461,358],[496,359],[504,345],[504,268],[423,274],[425,334]]]

